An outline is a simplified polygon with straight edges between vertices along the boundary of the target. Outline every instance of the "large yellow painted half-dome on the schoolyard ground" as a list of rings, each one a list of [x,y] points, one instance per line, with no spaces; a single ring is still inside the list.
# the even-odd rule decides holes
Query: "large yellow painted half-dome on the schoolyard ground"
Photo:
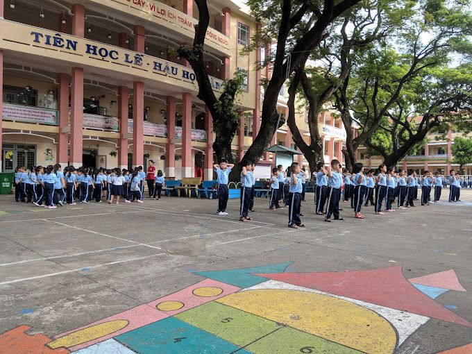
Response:
[[[237,292],[216,300],[365,353],[391,354],[396,332],[366,307],[324,294],[287,289]]]

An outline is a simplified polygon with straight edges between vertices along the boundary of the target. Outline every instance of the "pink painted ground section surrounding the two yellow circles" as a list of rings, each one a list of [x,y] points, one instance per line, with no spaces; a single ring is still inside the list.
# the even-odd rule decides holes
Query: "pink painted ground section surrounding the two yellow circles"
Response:
[[[218,296],[212,296],[212,297],[196,296],[192,292],[194,291],[194,289],[198,289],[199,287],[219,287],[220,289],[223,289],[223,292],[219,294]],[[239,291],[240,289],[241,288],[239,287],[235,287],[233,285],[229,285],[226,283],[221,283],[217,280],[205,279],[205,280],[202,280],[200,283],[196,283],[194,285],[186,287],[185,289],[182,289],[179,292],[175,292],[174,294],[170,294],[170,295],[164,296],[163,298],[159,298],[158,300],[151,301],[150,303],[148,303],[148,305],[155,307],[159,303],[162,303],[164,301],[180,301],[181,303],[184,304],[184,306],[181,309],[166,312],[167,314],[173,316],[174,314],[178,314],[180,312],[190,310],[193,307],[203,305],[204,303],[209,303],[210,301],[216,300],[217,298],[221,298],[223,296],[233,294]]]

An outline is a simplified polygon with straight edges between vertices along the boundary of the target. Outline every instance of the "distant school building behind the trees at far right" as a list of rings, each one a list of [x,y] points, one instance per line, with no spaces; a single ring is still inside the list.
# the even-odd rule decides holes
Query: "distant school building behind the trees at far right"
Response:
[[[444,132],[440,132],[441,135]],[[439,172],[448,175],[450,169],[459,170],[459,165],[453,164],[451,147],[454,144],[455,137],[463,136],[460,132],[449,130],[446,134],[446,140],[441,139],[439,133],[430,133],[427,135],[427,142],[422,149],[416,152],[416,155],[406,155],[400,162],[398,168],[414,169],[416,173],[423,174],[424,171],[430,171],[433,174]],[[439,139],[439,140],[438,140]],[[357,161],[362,162],[364,166],[376,169],[383,162],[380,155],[368,157],[365,147],[357,149]],[[472,165],[462,167],[464,174],[472,175]]]

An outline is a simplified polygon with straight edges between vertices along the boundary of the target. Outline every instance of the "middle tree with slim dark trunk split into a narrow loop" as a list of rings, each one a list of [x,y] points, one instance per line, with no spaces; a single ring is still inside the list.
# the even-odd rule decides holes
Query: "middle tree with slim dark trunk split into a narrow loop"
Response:
[[[332,100],[332,94],[346,80],[356,51],[375,40],[385,37],[394,25],[403,20],[405,7],[401,1],[366,1],[346,11],[332,28],[332,33],[312,53],[310,59],[323,62],[319,67],[298,69],[289,86],[289,117],[287,124],[292,132],[293,140],[303,152],[310,164],[310,169],[316,171],[317,162],[323,162],[323,140],[318,129],[318,117],[323,105]],[[301,83],[303,90],[297,90]],[[296,126],[295,101],[296,96],[306,101],[308,106],[308,126],[310,143],[303,140]]]

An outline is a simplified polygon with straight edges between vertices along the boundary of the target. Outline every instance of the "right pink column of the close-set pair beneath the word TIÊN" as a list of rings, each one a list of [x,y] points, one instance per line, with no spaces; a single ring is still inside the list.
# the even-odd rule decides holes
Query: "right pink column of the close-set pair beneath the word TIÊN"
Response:
[[[72,68],[71,80],[71,147],[69,162],[82,165],[83,154],[83,68]]]

